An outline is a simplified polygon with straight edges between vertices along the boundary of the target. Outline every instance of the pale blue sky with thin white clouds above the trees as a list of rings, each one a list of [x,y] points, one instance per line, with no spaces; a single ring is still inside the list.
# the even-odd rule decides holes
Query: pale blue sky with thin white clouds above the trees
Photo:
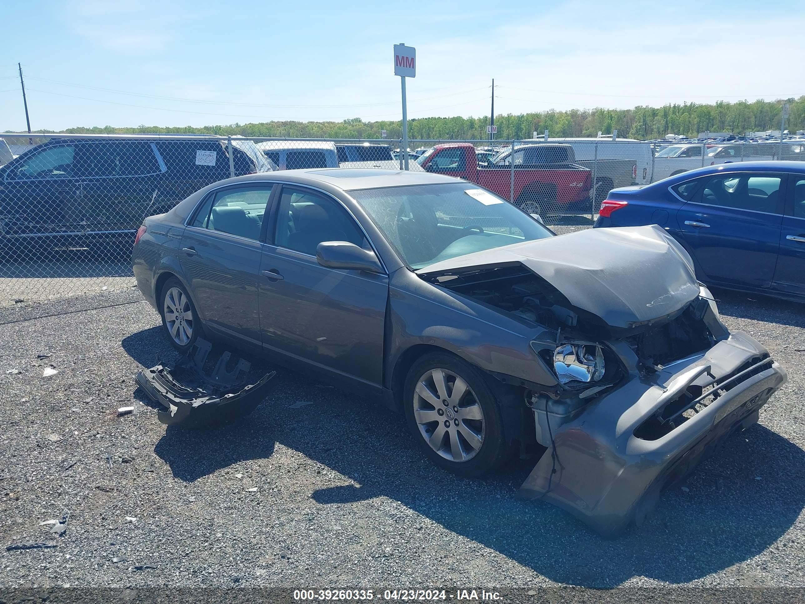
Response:
[[[805,94],[802,2],[3,4],[0,130],[398,119],[400,42],[412,118]]]

